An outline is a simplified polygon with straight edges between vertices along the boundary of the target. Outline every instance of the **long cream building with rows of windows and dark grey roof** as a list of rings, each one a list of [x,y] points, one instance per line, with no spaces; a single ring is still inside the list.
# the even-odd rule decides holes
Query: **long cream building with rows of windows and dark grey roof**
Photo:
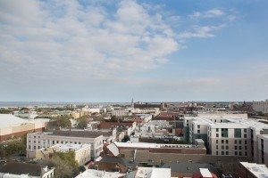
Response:
[[[46,133],[27,134],[27,157],[34,158],[36,150],[54,144],[90,144],[90,157],[96,159],[103,151],[103,135],[90,131],[57,130]]]

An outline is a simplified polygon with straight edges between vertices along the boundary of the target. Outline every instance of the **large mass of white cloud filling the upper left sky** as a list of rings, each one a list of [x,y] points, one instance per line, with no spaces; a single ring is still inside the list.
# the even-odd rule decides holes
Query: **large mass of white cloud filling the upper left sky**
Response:
[[[0,10],[0,62],[26,70],[25,77],[151,69],[180,47],[159,14],[135,1],[121,1],[115,13],[77,1],[6,0]]]

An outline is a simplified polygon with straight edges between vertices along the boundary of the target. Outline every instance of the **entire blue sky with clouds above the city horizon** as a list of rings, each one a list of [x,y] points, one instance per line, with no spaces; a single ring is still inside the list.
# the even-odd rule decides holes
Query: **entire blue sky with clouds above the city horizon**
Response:
[[[263,101],[268,1],[0,1],[0,101]]]

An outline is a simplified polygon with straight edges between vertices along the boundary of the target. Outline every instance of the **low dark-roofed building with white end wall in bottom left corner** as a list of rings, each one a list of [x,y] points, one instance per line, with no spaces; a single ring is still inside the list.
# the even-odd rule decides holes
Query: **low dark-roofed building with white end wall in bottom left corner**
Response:
[[[1,178],[52,178],[54,167],[37,164],[9,162],[0,167]]]

